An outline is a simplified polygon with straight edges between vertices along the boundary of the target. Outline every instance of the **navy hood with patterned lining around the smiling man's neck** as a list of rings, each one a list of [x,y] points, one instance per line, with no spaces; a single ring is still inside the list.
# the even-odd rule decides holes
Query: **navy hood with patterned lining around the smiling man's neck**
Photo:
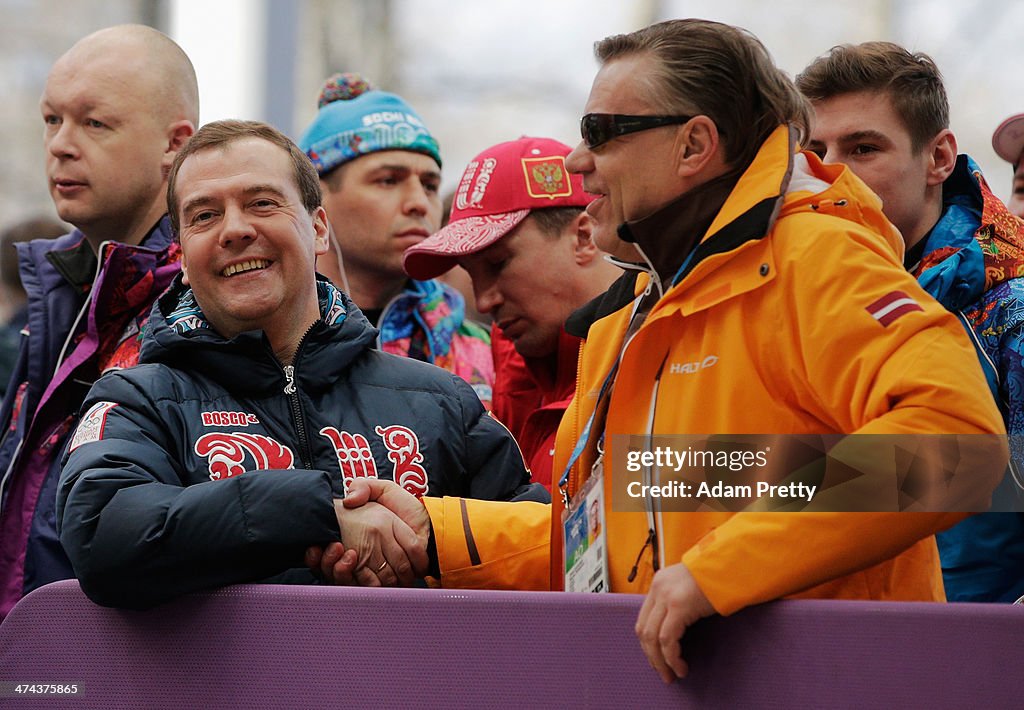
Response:
[[[362,351],[374,347],[377,330],[324,277],[317,276],[316,291],[321,319],[303,337],[294,366],[301,386],[324,388],[339,379]],[[284,367],[263,331],[222,337],[206,321],[180,275],[153,305],[139,363],[197,371],[242,394],[262,395],[285,386]]]

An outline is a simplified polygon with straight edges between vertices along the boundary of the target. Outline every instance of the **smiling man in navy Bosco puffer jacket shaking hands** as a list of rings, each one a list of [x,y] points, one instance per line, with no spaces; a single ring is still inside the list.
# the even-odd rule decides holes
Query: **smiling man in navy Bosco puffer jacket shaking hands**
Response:
[[[339,538],[359,583],[410,583],[426,566],[403,551],[413,531],[341,504],[357,477],[546,500],[468,384],[375,349],[316,279],[319,181],[286,136],[205,126],[171,168],[168,206],[182,276],[154,306],[142,365],[93,386],[60,478],[60,540],[93,599],[141,608],[265,579]]]

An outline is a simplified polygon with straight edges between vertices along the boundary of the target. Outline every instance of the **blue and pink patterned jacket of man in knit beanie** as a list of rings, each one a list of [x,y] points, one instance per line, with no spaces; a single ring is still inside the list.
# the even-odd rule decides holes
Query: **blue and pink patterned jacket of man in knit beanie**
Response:
[[[378,327],[382,350],[459,375],[490,409],[495,383],[490,336],[483,326],[466,319],[461,293],[440,281],[410,280],[384,308]]]

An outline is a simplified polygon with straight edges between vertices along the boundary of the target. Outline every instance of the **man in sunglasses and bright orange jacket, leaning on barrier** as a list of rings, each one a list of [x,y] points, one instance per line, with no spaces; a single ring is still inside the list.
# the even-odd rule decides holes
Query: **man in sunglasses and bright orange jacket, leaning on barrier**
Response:
[[[809,106],[756,38],[671,20],[602,40],[596,54],[584,142],[566,166],[597,196],[597,245],[639,254],[645,274],[583,345],[552,519],[530,504],[424,498],[434,572],[444,586],[579,589],[574,565],[603,549],[605,579],[588,586],[646,594],[636,631],[667,682],[687,672],[687,627],[715,613],[780,597],[941,599],[933,534],[959,513],[844,508],[833,496],[818,512],[735,514],[711,499],[683,512],[694,508],[653,486],[629,504],[616,493],[641,475],[631,447],[654,436],[830,434],[856,449],[864,437],[847,434],[990,434],[965,461],[983,498],[1007,452],[963,328],[901,267],[899,234],[863,183],[796,150]],[[653,482],[673,467],[640,468]],[[424,525],[411,497],[402,507],[385,482],[367,488]],[[572,526],[595,491],[603,544]],[[874,512],[829,512],[842,509]]]

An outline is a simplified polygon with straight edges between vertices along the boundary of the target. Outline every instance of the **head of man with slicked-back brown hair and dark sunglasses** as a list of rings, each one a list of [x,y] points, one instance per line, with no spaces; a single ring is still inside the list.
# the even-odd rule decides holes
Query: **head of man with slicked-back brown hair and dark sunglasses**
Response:
[[[738,175],[780,125],[807,132],[809,105],[745,30],[674,19],[603,39],[595,54],[601,68],[584,109],[585,140],[566,167],[598,196],[588,212],[608,253],[629,259],[620,224]]]

